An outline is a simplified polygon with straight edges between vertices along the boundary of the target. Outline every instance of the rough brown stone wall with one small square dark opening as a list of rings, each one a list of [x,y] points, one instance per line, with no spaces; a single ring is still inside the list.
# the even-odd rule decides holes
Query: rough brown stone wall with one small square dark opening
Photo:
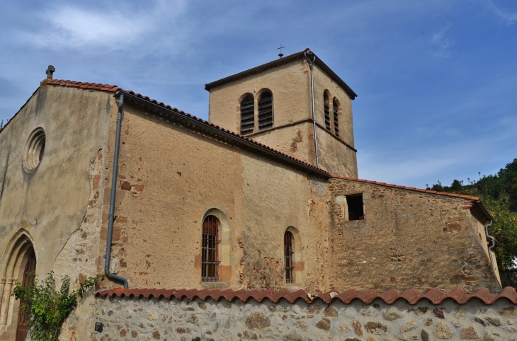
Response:
[[[329,190],[330,288],[500,290],[469,200],[338,179]],[[346,221],[346,195],[357,193],[365,219]]]

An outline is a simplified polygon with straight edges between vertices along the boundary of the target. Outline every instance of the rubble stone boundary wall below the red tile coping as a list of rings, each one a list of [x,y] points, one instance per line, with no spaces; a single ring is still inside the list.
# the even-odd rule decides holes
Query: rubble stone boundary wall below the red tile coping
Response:
[[[457,304],[398,299],[364,304],[316,299],[307,304],[285,299],[229,302],[195,298],[96,298],[84,340],[514,340],[517,309],[507,299],[486,305],[479,299]],[[88,336],[86,336],[88,335]],[[79,339],[81,340],[81,337]]]

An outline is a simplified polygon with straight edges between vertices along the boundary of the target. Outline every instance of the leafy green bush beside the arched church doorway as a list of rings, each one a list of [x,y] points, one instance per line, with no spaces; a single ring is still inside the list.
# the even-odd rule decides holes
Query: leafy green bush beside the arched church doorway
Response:
[[[59,331],[69,314],[77,306],[86,289],[97,284],[97,277],[89,277],[80,284],[79,289],[70,292],[70,277],[61,279],[61,287],[56,289],[54,272],[38,284],[33,277],[30,285],[16,281],[13,296],[20,300],[22,312],[27,312],[30,340],[57,341]]]

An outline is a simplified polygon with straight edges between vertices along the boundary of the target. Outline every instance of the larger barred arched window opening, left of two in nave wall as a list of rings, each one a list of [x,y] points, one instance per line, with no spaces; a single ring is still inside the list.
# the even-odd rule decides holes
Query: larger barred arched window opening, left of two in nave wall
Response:
[[[219,221],[215,216],[207,216],[203,221],[203,248],[201,260],[201,280],[217,282],[217,244],[219,243]]]

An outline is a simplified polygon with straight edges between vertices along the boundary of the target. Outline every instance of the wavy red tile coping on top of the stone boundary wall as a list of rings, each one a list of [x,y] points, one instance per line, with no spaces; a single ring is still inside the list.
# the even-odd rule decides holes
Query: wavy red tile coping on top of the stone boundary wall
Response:
[[[304,290],[288,291],[287,289],[281,291],[273,290],[237,290],[232,289],[108,289],[98,291],[97,297],[120,297],[120,298],[144,298],[144,299],[183,299],[186,297],[193,300],[198,297],[205,301],[211,298],[215,301],[225,299],[227,301],[246,302],[249,299],[254,299],[261,302],[264,299],[269,299],[273,303],[277,303],[280,299],[285,299],[290,303],[294,303],[297,299],[309,303],[316,300],[322,300],[329,304],[331,301],[339,300],[343,304],[350,304],[354,299],[359,299],[365,304],[371,304],[374,299],[382,299],[386,304],[393,304],[397,299],[404,299],[408,304],[417,304],[421,299],[428,299],[432,304],[441,304],[445,299],[453,299],[458,304],[466,304],[470,299],[475,298],[481,300],[484,304],[494,304],[499,299],[508,299],[513,304],[517,304],[517,292],[512,287],[506,287],[499,294],[491,294],[487,288],[480,288],[474,294],[465,294],[463,289],[457,287],[450,291],[449,294],[442,294],[439,289],[431,289],[424,294],[420,294],[416,289],[409,289],[403,294],[398,294],[397,290],[390,289],[382,293],[377,293],[374,289],[363,292],[358,292],[355,289],[343,291],[340,293],[337,290],[327,291],[317,296],[309,296],[309,293]]]

